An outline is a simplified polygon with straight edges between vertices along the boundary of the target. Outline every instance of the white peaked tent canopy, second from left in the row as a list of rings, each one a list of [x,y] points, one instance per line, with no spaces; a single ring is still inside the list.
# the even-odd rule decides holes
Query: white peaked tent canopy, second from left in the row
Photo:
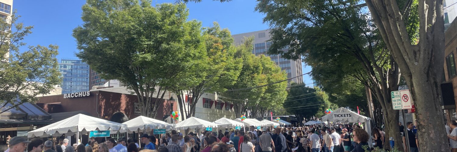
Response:
[[[166,129],[170,130],[175,128],[174,124],[169,124],[164,121],[155,120],[145,116],[138,116],[132,120],[126,121],[122,124],[127,125],[128,131],[151,131],[153,129]]]

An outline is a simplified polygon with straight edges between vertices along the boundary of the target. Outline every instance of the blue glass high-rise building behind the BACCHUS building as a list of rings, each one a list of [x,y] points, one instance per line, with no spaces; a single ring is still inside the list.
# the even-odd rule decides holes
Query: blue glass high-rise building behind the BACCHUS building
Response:
[[[64,81],[62,94],[89,91],[89,65],[79,59],[63,58],[59,69]]]

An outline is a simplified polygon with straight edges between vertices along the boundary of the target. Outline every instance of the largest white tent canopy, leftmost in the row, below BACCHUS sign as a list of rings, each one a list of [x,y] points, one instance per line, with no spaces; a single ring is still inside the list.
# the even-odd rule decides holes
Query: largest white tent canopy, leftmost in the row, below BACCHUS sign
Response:
[[[86,134],[90,131],[107,131],[111,130],[111,134],[117,132],[126,132],[127,125],[117,122],[107,121],[88,115],[78,114],[67,119],[55,122],[48,126],[43,126],[37,130],[27,133],[29,138],[33,137],[48,137],[52,136],[73,136],[76,132]]]

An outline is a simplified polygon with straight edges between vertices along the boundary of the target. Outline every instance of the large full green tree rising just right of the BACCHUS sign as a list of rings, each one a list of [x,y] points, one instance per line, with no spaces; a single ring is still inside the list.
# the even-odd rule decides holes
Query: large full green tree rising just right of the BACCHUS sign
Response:
[[[187,21],[186,5],[87,0],[82,10],[84,24],[73,30],[76,56],[133,90],[141,115],[154,118],[172,86],[198,82],[189,73],[206,52],[201,23]]]

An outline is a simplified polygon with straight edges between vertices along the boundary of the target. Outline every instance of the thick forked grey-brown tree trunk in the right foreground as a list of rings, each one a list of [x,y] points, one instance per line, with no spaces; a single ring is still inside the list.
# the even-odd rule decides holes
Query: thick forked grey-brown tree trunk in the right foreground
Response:
[[[417,44],[410,41],[404,16],[396,0],[365,1],[410,88],[416,108],[420,151],[449,151],[439,81],[444,65],[443,1],[419,0],[420,28]],[[396,113],[398,115],[398,111]]]

